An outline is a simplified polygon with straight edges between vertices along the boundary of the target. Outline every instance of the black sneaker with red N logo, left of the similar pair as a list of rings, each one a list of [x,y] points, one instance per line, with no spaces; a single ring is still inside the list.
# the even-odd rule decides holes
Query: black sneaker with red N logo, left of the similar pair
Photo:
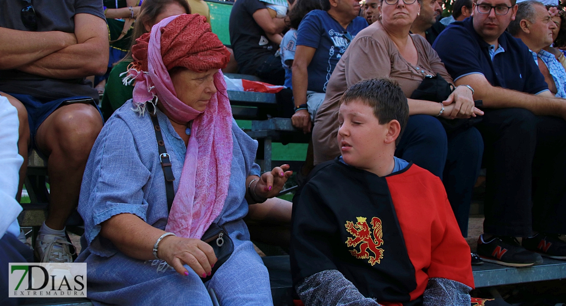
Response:
[[[542,257],[537,253],[521,247],[517,238],[510,236],[494,236],[489,241],[478,239],[478,255],[483,261],[494,264],[525,267],[542,264]]]

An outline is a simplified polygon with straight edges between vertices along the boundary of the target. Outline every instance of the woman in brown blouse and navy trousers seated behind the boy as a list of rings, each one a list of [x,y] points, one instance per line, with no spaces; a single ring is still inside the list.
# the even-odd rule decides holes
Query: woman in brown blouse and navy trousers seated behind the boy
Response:
[[[410,98],[427,76],[438,74],[453,83],[430,44],[422,36],[409,33],[420,9],[417,0],[381,0],[376,22],[351,42],[332,74],[325,101],[316,115],[312,132],[315,164],[340,154],[336,122],[338,101],[346,89],[361,80],[391,77],[408,98],[410,115],[395,156],[444,178],[448,200],[466,237],[471,191],[482,160],[482,137],[473,127],[447,135],[434,117],[470,118],[483,112],[475,108],[473,89],[468,86],[457,87],[441,103]]]

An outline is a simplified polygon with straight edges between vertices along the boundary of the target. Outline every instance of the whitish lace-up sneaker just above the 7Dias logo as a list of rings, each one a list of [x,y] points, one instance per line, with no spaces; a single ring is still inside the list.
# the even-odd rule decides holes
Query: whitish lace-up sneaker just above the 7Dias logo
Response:
[[[36,241],[35,247],[35,255],[40,262],[72,262],[75,247],[66,238],[49,234],[43,235],[41,238]],[[73,249],[72,253],[70,248]]]

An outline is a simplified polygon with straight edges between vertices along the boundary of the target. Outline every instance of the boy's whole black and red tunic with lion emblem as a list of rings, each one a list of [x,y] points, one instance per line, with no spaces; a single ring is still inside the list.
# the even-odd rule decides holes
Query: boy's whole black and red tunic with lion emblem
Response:
[[[422,304],[430,278],[474,287],[444,186],[413,164],[383,177],[338,159],[317,166],[294,198],[290,257],[295,286],[337,270],[383,305]]]

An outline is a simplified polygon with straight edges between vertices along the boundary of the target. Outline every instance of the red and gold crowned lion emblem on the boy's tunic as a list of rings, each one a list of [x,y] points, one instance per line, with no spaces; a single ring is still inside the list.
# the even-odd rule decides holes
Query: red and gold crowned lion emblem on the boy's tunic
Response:
[[[381,240],[381,220],[378,217],[374,217],[371,219],[371,228],[373,229],[374,238],[371,238],[372,232],[370,231],[370,227],[367,225],[366,218],[357,217],[358,222],[353,223],[350,221],[346,221],[346,231],[348,231],[354,239],[348,238],[346,240],[346,245],[348,247],[354,247],[354,249],[350,250],[351,255],[355,256],[359,259],[366,259],[370,258],[367,262],[371,265],[375,265],[376,263],[380,263],[381,258],[383,258],[383,249],[379,247],[383,244],[383,240]],[[360,244],[361,243],[361,244]],[[359,251],[355,249],[359,244]],[[374,253],[375,256],[370,256],[370,253],[367,250],[370,250]]]

